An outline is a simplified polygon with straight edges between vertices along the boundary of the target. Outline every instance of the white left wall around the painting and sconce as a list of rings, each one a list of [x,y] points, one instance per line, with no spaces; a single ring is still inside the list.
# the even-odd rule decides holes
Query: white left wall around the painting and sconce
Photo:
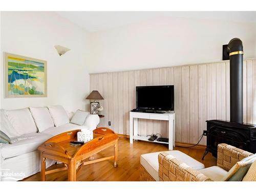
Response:
[[[54,46],[71,49],[61,57]],[[68,111],[85,109],[89,94],[86,67],[88,34],[54,12],[2,12],[1,55],[3,52],[47,60],[48,97],[4,98],[1,59],[1,108],[61,104]]]

